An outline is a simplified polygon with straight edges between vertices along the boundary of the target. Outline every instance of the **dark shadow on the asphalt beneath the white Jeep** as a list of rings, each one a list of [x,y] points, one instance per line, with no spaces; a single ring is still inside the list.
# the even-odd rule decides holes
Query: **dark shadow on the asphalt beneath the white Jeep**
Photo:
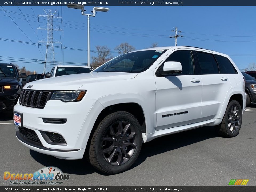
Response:
[[[165,153],[167,151],[188,146],[193,143],[197,143],[213,137],[218,137],[218,134],[216,133],[214,127],[205,126],[154,139],[153,141],[142,145],[141,153],[130,169],[133,169],[134,167],[143,163],[147,157]],[[63,160],[57,159],[50,155],[41,154],[33,150],[30,150],[30,155],[38,163],[46,167],[58,167],[67,174],[87,175],[97,172],[101,175],[106,175],[94,169],[85,157],[80,160]]]

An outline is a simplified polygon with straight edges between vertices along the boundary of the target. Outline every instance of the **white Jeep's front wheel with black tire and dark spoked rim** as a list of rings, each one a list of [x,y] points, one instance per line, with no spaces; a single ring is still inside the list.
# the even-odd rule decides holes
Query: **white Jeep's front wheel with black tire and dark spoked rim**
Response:
[[[129,169],[142,145],[141,126],[130,113],[107,115],[97,126],[89,147],[89,161],[96,169],[117,174]]]

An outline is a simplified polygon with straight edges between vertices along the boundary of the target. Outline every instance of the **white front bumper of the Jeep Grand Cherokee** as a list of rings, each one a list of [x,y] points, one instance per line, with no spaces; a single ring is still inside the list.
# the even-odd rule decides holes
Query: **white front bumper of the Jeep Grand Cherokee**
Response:
[[[32,130],[40,144],[33,142],[31,137],[26,138],[15,125],[16,137],[26,147],[39,153],[53,155],[61,159],[82,159],[91,132],[93,120],[89,111],[92,106],[101,104],[95,100],[82,100],[80,102],[64,103],[58,100],[47,101],[43,109],[22,106],[19,103],[14,106],[14,111],[23,114],[23,127]],[[91,113],[90,113],[91,114]],[[45,123],[43,118],[66,118],[63,124]],[[96,117],[97,118],[97,117]],[[66,145],[49,143],[43,132],[52,132],[61,135]]]

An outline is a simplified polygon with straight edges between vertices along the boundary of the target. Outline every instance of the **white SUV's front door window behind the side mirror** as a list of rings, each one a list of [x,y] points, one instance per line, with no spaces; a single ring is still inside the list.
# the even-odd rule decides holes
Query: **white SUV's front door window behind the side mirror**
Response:
[[[166,61],[177,61],[181,63],[182,73],[179,74],[194,74],[194,64],[191,51],[176,51],[172,53]],[[164,64],[164,63],[163,63]],[[163,71],[163,64],[160,66],[159,71]]]

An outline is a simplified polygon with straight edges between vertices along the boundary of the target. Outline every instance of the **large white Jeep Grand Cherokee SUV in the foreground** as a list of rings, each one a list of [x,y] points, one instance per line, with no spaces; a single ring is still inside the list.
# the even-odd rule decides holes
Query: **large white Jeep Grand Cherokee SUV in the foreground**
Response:
[[[229,56],[160,47],[120,55],[91,73],[26,84],[14,123],[30,149],[61,159],[85,154],[115,174],[135,162],[142,143],[163,135],[214,125],[236,136],[245,103],[243,75]]]

